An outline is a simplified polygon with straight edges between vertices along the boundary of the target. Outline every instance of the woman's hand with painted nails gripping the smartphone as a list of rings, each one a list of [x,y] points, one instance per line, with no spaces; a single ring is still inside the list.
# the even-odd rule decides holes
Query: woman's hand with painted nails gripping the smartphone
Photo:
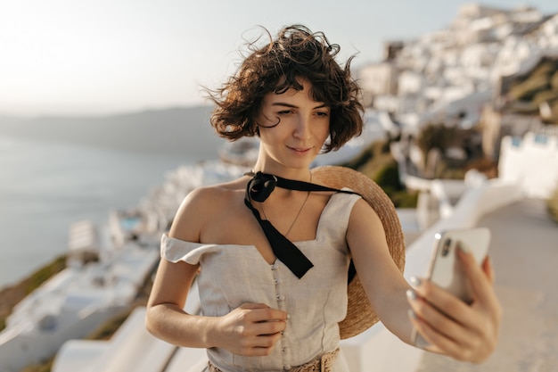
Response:
[[[502,309],[494,293],[490,260],[479,266],[470,252],[457,251],[473,302],[467,304],[430,281],[417,279],[414,291],[407,292],[410,318],[431,344],[427,350],[480,363],[496,348]]]

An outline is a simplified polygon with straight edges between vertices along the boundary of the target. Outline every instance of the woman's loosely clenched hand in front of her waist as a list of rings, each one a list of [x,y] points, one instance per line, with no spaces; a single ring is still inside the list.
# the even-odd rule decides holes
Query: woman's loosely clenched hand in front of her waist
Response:
[[[217,319],[210,335],[217,347],[238,355],[266,356],[286,327],[287,313],[263,303],[244,303]]]

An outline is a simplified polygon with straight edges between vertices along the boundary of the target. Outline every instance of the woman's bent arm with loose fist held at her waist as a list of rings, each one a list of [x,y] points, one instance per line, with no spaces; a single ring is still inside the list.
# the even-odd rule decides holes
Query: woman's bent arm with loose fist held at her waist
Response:
[[[208,189],[188,195],[168,235],[199,241],[207,217],[203,213],[210,213],[210,206],[206,204],[215,201],[214,196]],[[268,355],[285,328],[286,313],[265,304],[247,303],[223,317],[188,314],[184,305],[198,269],[198,265],[184,261],[160,260],[147,303],[145,324],[148,331],[178,346],[221,347],[241,355]]]

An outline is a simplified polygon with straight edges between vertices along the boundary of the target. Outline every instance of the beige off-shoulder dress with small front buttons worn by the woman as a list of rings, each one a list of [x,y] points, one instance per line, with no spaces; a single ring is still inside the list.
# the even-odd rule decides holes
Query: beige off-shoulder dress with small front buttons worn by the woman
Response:
[[[200,264],[202,314],[226,315],[246,302],[265,303],[290,318],[281,339],[267,357],[244,357],[219,348],[208,358],[224,372],[283,371],[315,360],[339,347],[338,323],[347,311],[350,212],[360,196],[332,194],[320,216],[316,239],[293,242],[314,267],[299,279],[276,260],[269,265],[253,245],[200,244],[162,236],[161,255],[176,262]],[[332,371],[346,372],[341,353]]]

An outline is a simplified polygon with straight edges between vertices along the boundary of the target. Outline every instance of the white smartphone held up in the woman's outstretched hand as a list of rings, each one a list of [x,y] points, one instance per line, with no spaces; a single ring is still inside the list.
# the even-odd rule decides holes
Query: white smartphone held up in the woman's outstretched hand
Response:
[[[472,252],[480,265],[488,254],[490,230],[487,227],[463,228],[437,233],[434,237],[435,247],[427,277],[464,302],[471,303],[471,291],[457,258],[457,249],[462,244],[466,250]],[[416,329],[413,330],[412,340],[415,346],[428,346],[428,342]]]

